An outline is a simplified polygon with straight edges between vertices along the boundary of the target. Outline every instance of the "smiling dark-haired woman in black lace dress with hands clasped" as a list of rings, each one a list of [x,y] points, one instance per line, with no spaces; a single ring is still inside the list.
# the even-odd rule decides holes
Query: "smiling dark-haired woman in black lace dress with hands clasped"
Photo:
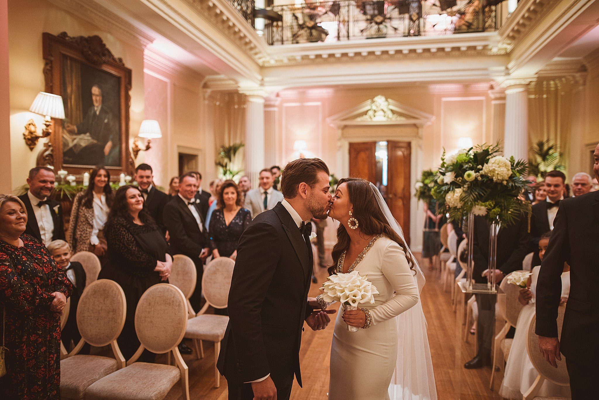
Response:
[[[102,269],[98,278],[112,279],[125,292],[125,326],[117,342],[128,360],[140,346],[134,323],[137,303],[147,288],[167,281],[173,258],[162,231],[144,210],[140,190],[132,185],[116,191],[105,231],[110,267]],[[144,351],[141,360],[153,362],[154,357],[155,354]]]

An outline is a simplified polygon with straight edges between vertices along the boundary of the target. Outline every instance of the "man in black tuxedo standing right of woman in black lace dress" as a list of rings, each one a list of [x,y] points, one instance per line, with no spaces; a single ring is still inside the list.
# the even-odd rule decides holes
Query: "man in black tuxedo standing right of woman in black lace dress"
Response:
[[[195,290],[189,299],[193,309],[198,312],[202,299],[202,273],[204,261],[208,256],[208,232],[204,227],[204,218],[195,199],[198,181],[193,173],[179,178],[179,195],[173,197],[164,206],[162,216],[170,235],[173,254],[184,254],[193,260],[198,272]]]

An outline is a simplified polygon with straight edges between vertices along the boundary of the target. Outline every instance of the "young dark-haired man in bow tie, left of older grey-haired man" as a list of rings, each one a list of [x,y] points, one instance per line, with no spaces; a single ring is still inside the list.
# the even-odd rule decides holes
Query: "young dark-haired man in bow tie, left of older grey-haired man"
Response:
[[[558,212],[559,202],[564,199],[565,175],[561,171],[547,172],[545,177],[547,199],[534,204],[531,218],[530,251],[534,252],[533,266],[541,264],[539,258],[539,239],[543,234],[553,230],[553,220]]]

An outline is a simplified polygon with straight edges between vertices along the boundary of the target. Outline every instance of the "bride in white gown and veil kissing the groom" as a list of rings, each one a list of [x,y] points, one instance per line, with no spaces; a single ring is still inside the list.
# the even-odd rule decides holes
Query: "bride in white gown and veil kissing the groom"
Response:
[[[337,219],[329,273],[367,275],[374,304],[337,314],[329,400],[437,399],[426,322],[419,300],[424,277],[401,227],[370,182],[341,179],[329,216]],[[326,308],[320,298],[311,305]],[[349,332],[346,324],[358,332]]]

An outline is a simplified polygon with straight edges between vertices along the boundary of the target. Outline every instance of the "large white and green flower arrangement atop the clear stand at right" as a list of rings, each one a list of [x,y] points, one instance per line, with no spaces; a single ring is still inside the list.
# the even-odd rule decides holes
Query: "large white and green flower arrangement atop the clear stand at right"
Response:
[[[527,187],[527,163],[505,158],[497,145],[479,145],[441,156],[438,187],[432,194],[452,221],[472,212],[489,222],[512,223],[530,203],[520,194]]]

